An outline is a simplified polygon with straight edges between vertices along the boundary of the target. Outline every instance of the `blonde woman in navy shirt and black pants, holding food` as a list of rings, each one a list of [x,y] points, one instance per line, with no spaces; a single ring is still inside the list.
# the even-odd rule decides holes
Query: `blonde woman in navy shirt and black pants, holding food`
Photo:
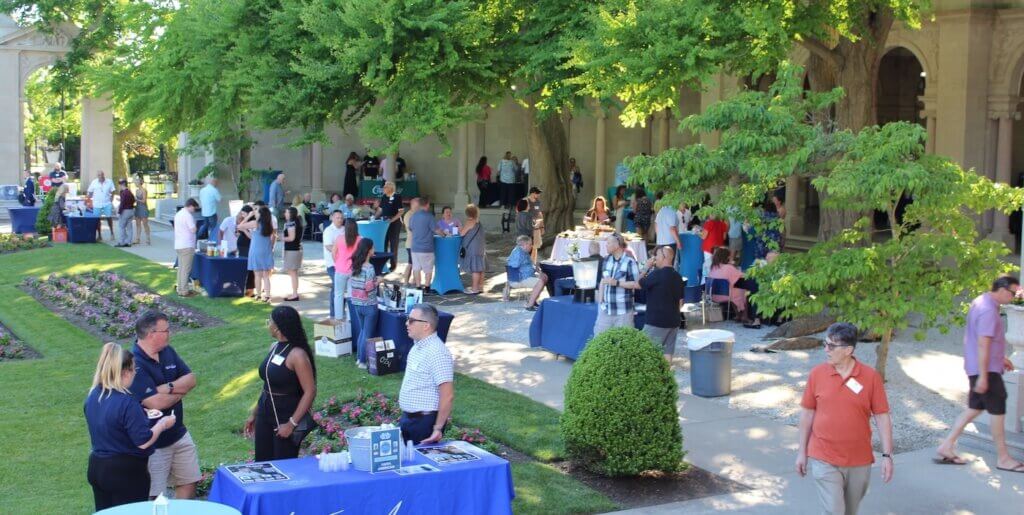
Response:
[[[116,343],[103,345],[85,398],[85,421],[92,440],[87,477],[96,511],[150,499],[146,465],[152,446],[175,422],[171,415],[150,428],[142,404],[128,391],[134,379],[132,353]]]

